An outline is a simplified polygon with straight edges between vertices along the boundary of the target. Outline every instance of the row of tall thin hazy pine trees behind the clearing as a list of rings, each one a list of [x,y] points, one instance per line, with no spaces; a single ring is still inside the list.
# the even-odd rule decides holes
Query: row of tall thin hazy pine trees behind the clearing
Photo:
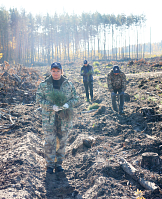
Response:
[[[0,8],[0,62],[51,64],[76,59],[124,57],[125,46],[138,42],[144,15],[55,13],[46,16]],[[118,52],[117,52],[118,49]]]

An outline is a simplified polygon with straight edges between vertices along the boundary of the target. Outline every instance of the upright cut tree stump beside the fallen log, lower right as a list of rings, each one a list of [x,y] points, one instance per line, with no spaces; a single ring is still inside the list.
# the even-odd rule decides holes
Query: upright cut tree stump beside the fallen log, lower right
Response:
[[[146,152],[142,154],[141,166],[143,168],[155,168],[160,165],[160,158],[157,153]]]

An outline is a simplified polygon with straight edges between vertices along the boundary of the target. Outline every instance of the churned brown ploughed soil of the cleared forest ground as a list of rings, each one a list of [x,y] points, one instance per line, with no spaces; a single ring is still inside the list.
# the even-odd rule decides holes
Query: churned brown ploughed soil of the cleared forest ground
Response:
[[[50,68],[1,66],[1,199],[162,198],[162,60],[94,64],[93,103],[85,101],[81,63],[62,64],[80,100],[59,175],[46,174],[41,109],[35,104],[37,87]],[[113,111],[107,88],[113,64],[127,77],[124,115]],[[98,109],[89,111],[92,105]],[[141,164],[145,152],[158,155],[156,165]],[[142,186],[140,177],[123,169],[122,160],[158,189]]]

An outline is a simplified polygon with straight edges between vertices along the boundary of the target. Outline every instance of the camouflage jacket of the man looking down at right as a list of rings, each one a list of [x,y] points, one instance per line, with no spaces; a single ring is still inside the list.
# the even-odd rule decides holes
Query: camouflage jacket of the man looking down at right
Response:
[[[118,75],[114,75],[113,70],[107,75],[107,84],[110,92],[114,90],[126,90],[126,76],[123,72],[119,72]]]

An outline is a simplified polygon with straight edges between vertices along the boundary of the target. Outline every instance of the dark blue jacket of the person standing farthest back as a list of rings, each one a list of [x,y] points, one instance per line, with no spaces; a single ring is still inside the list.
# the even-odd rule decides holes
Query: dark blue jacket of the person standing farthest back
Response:
[[[81,68],[81,76],[83,76],[83,82],[93,82],[93,67],[87,65]]]

